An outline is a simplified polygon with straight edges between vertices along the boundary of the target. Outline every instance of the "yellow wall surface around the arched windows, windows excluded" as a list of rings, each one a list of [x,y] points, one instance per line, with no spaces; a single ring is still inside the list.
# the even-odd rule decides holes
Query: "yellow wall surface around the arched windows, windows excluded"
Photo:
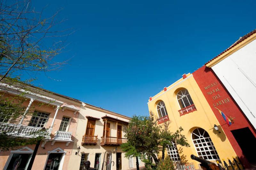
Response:
[[[183,88],[188,90],[197,111],[180,116],[180,113],[178,112],[180,110],[180,105],[177,101],[176,94]],[[156,104],[159,100],[164,101],[168,112],[169,120],[171,121],[169,130],[171,132],[175,132],[179,127],[184,129],[182,134],[186,136],[190,147],[177,145],[180,158],[183,163],[194,163],[195,167],[198,168],[199,162],[190,158],[191,154],[198,156],[194,143],[192,142],[191,135],[192,131],[196,128],[203,128],[208,132],[221,160],[222,158],[226,159],[236,156],[236,153],[226,138],[225,133],[223,131],[218,133],[213,129],[214,124],[219,125],[219,122],[204,98],[204,95],[192,74],[187,74],[186,79],[181,78],[176,81],[171,86],[167,87],[167,91],[162,90],[148,102],[149,111],[152,111],[157,118],[158,114]],[[215,162],[214,160],[210,161]]]

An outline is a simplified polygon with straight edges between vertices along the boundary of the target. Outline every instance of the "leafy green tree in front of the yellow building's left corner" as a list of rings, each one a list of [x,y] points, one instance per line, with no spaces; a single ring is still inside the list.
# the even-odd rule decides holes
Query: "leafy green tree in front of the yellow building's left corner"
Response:
[[[157,120],[154,119],[153,113],[150,116],[132,117],[129,127],[124,130],[127,143],[121,145],[125,156],[138,156],[145,163],[145,166],[150,169],[156,166],[153,165],[153,159],[156,165],[159,159],[156,155],[162,152],[162,160],[164,160],[164,152],[167,145],[172,145],[172,142],[182,146],[189,146],[184,135],[181,134],[182,128],[172,133],[168,130],[169,122],[164,123],[164,126],[159,126]]]

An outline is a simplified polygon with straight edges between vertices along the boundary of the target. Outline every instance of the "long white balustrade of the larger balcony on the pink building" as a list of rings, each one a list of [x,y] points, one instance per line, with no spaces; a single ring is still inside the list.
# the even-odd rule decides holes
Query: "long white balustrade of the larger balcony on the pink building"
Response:
[[[41,129],[42,128],[32,127],[32,126],[23,126],[19,124],[0,123],[0,131],[7,132],[7,135],[18,136],[18,137],[28,137],[28,138],[36,137],[38,135],[36,134],[36,132],[38,132]]]

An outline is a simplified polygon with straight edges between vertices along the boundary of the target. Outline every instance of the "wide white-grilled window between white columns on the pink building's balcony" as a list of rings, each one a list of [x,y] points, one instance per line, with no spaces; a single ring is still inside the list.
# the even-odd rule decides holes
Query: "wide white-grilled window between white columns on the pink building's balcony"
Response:
[[[48,113],[37,112],[36,116],[33,116],[31,118],[28,126],[43,128],[46,125],[48,118],[49,118]]]

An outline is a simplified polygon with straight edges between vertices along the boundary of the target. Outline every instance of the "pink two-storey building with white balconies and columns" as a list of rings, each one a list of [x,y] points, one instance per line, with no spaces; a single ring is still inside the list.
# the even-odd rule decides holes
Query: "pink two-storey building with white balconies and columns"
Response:
[[[28,132],[46,128],[49,136],[41,141],[32,169],[68,169],[73,143],[77,140],[76,126],[81,102],[44,89],[29,88],[25,92],[28,100],[23,103],[26,111],[20,122],[11,124],[10,120],[4,119],[0,114],[0,129],[12,127],[19,132],[18,136],[29,138],[31,136]],[[0,83],[0,92],[4,92],[5,97],[13,97],[24,90]],[[28,111],[35,114],[26,116]],[[27,145],[11,151],[1,151],[0,169],[27,169],[35,146]]]

